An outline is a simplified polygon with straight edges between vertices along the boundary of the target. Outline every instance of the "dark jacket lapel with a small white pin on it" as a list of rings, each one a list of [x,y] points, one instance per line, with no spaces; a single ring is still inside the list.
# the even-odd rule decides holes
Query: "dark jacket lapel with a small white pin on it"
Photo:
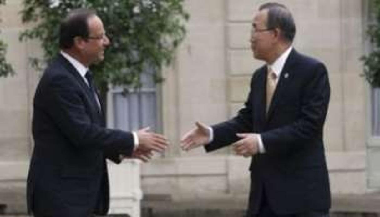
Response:
[[[274,91],[271,105],[269,105],[267,120],[271,118],[271,115],[274,109],[276,109],[279,101],[281,100],[281,94],[287,90],[288,84],[290,83],[291,79],[294,79],[292,68],[293,68],[294,63],[296,62],[296,59],[297,59],[297,52],[293,49],[290,52],[288,59],[286,60],[285,65],[280,73],[279,81]]]

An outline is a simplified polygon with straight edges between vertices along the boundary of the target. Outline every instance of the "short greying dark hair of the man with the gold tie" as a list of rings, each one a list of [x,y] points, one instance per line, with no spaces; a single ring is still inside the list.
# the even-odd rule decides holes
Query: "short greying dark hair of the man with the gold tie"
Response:
[[[293,16],[285,5],[276,2],[265,3],[259,10],[268,10],[267,28],[279,28],[285,40],[292,42],[296,35],[296,24]]]

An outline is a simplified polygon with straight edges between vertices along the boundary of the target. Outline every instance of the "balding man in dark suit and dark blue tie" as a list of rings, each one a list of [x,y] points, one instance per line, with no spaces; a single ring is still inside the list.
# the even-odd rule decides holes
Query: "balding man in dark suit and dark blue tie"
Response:
[[[45,70],[35,92],[35,146],[27,180],[28,211],[37,217],[105,215],[109,206],[106,158],[149,160],[167,147],[148,129],[105,128],[91,72],[109,45],[94,11],[71,11],[60,27],[60,54]]]

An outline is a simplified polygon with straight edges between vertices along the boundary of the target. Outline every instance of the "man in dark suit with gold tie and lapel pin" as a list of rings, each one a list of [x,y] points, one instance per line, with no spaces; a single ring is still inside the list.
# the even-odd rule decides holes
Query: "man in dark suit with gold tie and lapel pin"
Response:
[[[207,152],[233,145],[251,157],[247,217],[325,217],[330,208],[323,125],[330,87],[323,63],[292,47],[296,27],[278,3],[260,6],[251,48],[266,65],[253,73],[250,93],[236,117],[212,127],[196,122],[184,150]]]

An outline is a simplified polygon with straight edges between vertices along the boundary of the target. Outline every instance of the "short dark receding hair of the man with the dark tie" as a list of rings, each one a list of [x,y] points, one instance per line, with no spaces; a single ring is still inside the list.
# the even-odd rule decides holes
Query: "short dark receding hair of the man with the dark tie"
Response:
[[[74,44],[74,38],[81,36],[87,38],[89,36],[89,27],[87,20],[91,16],[95,16],[94,10],[79,8],[70,11],[63,19],[59,32],[59,47],[61,49],[71,48]]]

